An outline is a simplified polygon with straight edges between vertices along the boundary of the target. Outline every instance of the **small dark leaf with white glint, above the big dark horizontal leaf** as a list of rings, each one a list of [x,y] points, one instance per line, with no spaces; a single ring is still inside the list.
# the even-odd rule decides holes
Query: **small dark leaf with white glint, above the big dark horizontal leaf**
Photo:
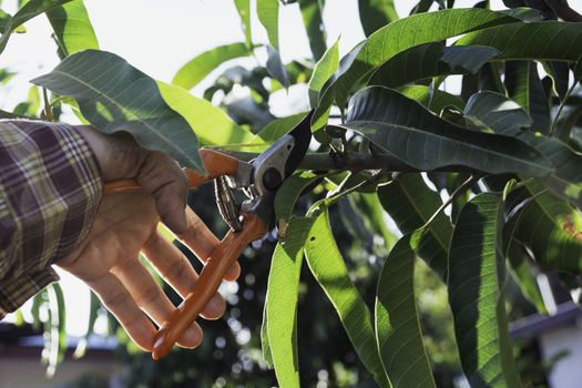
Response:
[[[531,116],[517,102],[490,91],[471,95],[463,114],[478,129],[508,135],[519,135],[532,123]]]

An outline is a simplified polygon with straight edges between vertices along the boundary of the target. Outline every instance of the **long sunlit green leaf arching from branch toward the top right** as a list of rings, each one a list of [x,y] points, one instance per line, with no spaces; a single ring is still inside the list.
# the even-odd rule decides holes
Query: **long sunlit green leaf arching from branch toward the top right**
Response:
[[[397,53],[413,45],[439,42],[447,38],[509,23],[515,19],[483,9],[442,10],[399,19],[372,33],[348,57],[354,57],[347,69],[338,72],[335,81],[323,92],[313,123],[323,127],[321,115],[335,103],[344,108],[351,89]],[[474,43],[477,44],[477,43]],[[481,43],[481,45],[488,45]]]

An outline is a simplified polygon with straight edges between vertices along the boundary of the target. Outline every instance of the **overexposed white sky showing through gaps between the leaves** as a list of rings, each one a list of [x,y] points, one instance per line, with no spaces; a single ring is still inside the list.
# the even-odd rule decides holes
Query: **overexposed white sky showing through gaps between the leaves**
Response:
[[[416,2],[396,0],[399,14],[408,14]],[[458,0],[457,6],[471,7],[476,2]],[[570,3],[582,9],[579,0]],[[151,76],[164,81],[170,81],[177,69],[196,54],[216,45],[244,41],[232,0],[174,0],[171,6],[160,0],[85,0],[85,6],[102,50],[112,51]],[[3,7],[13,12],[16,1],[4,1]],[[252,1],[252,8],[255,8],[255,1]],[[492,8],[502,9],[501,0],[493,0]],[[298,4],[280,7],[280,10],[279,39],[284,62],[309,57]],[[254,42],[266,42],[266,33],[256,14],[253,18]],[[328,43],[341,37],[341,55],[364,39],[357,0],[327,0],[324,23]],[[8,88],[0,90],[0,109],[9,110],[22,101],[30,88],[28,80],[50,71],[59,62],[47,19],[37,17],[25,27],[28,32],[12,37],[7,50],[0,55],[0,68],[19,72]],[[243,64],[252,65],[253,61],[247,59]],[[200,95],[202,91],[203,88],[198,88],[194,93]],[[287,96],[282,92],[277,102],[283,108],[275,109],[285,112],[285,105],[289,105],[287,99],[293,99],[293,93]],[[71,276],[63,274],[62,277],[61,284],[69,306],[68,330],[79,335],[86,325],[89,294]],[[71,319],[73,316],[79,319]]]

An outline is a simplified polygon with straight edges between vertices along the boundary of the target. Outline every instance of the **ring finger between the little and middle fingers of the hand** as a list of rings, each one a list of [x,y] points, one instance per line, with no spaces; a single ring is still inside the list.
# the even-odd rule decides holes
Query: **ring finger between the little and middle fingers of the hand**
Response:
[[[140,306],[157,326],[162,326],[165,321],[170,320],[175,309],[174,305],[139,259],[127,261],[125,265],[113,268],[112,273],[123,283],[137,306]],[[182,334],[177,345],[185,348],[195,348],[201,341],[202,329],[194,321],[187,330]]]

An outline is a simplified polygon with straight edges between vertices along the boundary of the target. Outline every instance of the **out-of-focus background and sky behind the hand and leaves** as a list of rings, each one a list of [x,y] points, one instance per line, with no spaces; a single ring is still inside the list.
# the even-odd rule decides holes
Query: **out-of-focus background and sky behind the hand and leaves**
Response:
[[[195,55],[217,45],[245,40],[236,8],[228,0],[84,2],[102,50],[118,53],[149,75],[167,82]],[[457,1],[456,6],[472,7],[476,2]],[[0,3],[9,12],[18,8],[17,1]],[[253,10],[255,2],[251,4]],[[407,16],[415,4],[416,1],[396,1],[401,17]],[[571,6],[579,11],[582,9],[576,1],[571,1]],[[504,7],[501,1],[491,1],[491,8]],[[356,0],[327,0],[323,21],[328,45],[340,37],[340,58],[365,38]],[[252,17],[252,25],[253,42],[267,42],[256,14]],[[217,68],[196,85],[193,93],[221,104],[237,123],[253,130],[265,126],[275,118],[307,110],[306,81],[314,63],[297,3],[280,8],[279,25],[282,59],[290,64],[295,78],[288,91],[262,88],[266,52],[257,50],[255,57],[228,61]],[[38,91],[34,92],[28,81],[59,63],[47,19],[43,16],[34,18],[25,28],[27,32],[14,35],[0,55],[2,110],[13,111],[19,104],[29,104],[27,109],[33,109],[31,105],[39,100],[34,94]],[[255,86],[248,86],[253,84]],[[457,85],[452,83],[447,88],[455,90]],[[259,99],[251,91],[258,93]],[[70,111],[60,113],[62,121],[78,122]],[[317,198],[317,194],[302,197],[298,211],[305,212]],[[218,236],[225,233],[226,225],[214,207],[212,187],[192,193],[190,205]],[[351,277],[371,308],[377,276],[391,242],[375,235],[366,224],[367,219],[355,215],[357,208],[365,206],[365,196],[345,198],[333,208],[330,216]],[[390,224],[389,219],[386,222]],[[394,228],[391,233],[398,235]],[[228,302],[224,318],[201,321],[204,329],[201,347],[175,350],[157,363],[127,340],[83,284],[61,273],[62,300],[60,289],[47,290],[0,323],[0,388],[276,385],[274,372],[263,360],[261,350],[263,304],[274,246],[275,237],[269,235],[245,252],[241,258],[243,273],[239,280],[222,287]],[[200,269],[195,259],[193,264]],[[417,274],[417,284],[422,285],[417,290],[418,306],[423,317],[435,378],[439,387],[463,387],[446,288],[420,262]],[[548,372],[566,359],[573,365],[580,363],[578,355],[572,355],[575,346],[570,346],[569,350],[561,345],[582,340],[578,328],[581,321],[579,310],[571,306],[571,296],[557,286],[558,282],[553,282],[551,275],[540,282],[548,285],[544,295],[548,304],[554,306],[551,321],[534,315],[535,308],[523,299],[515,285],[508,286],[508,309],[512,320],[518,321],[513,326],[514,353],[527,387],[548,386]],[[171,289],[167,292],[175,303],[180,302]],[[58,310],[51,312],[48,303],[51,300],[64,306],[65,312],[61,326],[57,328],[61,333],[57,334],[40,324],[51,314],[58,314]],[[302,386],[376,386],[359,364],[335,310],[307,270],[302,274],[298,333]],[[47,346],[50,344],[47,337],[51,336],[59,341],[54,345],[53,340],[52,346],[62,349],[57,356],[60,363],[50,360],[54,356]],[[575,372],[575,368],[570,370]]]

